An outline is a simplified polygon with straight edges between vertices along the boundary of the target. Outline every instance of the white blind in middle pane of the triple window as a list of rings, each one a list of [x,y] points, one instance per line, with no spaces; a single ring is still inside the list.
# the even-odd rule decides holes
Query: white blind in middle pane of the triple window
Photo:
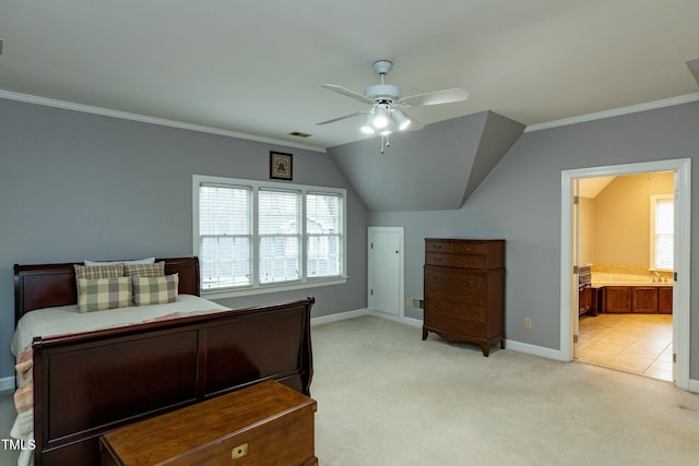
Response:
[[[260,228],[261,284],[301,277],[301,193],[261,188]]]

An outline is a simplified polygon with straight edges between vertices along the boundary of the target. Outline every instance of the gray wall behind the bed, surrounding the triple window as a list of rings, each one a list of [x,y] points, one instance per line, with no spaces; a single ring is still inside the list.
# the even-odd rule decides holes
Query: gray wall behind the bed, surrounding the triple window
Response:
[[[220,302],[365,308],[367,213],[325,154],[0,99],[0,379],[14,374],[13,264],[191,255],[192,175],[269,179],[270,150],[294,154],[294,182],[347,189],[350,279]]]

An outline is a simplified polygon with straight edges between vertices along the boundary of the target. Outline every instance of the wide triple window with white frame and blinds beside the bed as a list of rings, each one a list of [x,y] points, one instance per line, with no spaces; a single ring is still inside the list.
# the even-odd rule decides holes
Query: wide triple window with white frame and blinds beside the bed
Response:
[[[344,190],[196,175],[193,198],[202,291],[344,283]]]

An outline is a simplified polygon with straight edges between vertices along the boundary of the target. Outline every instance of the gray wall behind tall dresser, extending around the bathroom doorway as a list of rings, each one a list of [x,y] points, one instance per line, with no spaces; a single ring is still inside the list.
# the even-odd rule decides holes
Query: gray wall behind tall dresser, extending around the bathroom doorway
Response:
[[[370,213],[370,226],[405,228],[405,296],[423,296],[425,237],[507,240],[507,337],[560,349],[561,170],[668,158],[699,166],[699,103],[524,133],[462,208]],[[437,143],[437,142],[435,142]],[[692,231],[699,190],[692,191]],[[699,264],[692,241],[691,265]],[[690,378],[699,379],[699,274],[691,279]],[[406,315],[422,319],[410,309]],[[524,330],[524,318],[534,326]]]

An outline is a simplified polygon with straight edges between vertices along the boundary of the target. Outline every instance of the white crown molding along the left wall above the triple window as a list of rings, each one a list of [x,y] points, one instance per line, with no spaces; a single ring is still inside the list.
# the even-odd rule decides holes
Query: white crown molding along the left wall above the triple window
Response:
[[[92,107],[90,105],[75,104],[75,103],[66,101],[66,100],[57,100],[52,98],[39,97],[35,95],[29,95],[29,94],[21,94],[21,93],[0,89],[0,98],[5,98],[9,100],[19,100],[27,104],[45,105],[47,107],[62,108],[64,110],[74,110],[74,111],[82,111],[85,113],[100,115],[104,117],[120,118],[122,120],[140,121],[142,123],[159,124],[162,127],[178,128],[181,130],[198,131],[201,133],[217,134],[222,136],[236,138],[236,139],[262,142],[262,143],[274,144],[274,145],[282,145],[285,147],[304,148],[307,151],[321,152],[323,154],[325,153],[324,148],[321,148],[315,145],[297,144],[294,142],[276,140],[273,138],[257,136],[253,134],[239,133],[236,131],[228,131],[228,130],[223,130],[223,129],[213,128],[213,127],[204,127],[201,124],[185,123],[182,121],[168,120],[165,118],[147,117],[145,115],[130,113],[128,111],[111,110],[111,109],[102,108],[102,107]]]

